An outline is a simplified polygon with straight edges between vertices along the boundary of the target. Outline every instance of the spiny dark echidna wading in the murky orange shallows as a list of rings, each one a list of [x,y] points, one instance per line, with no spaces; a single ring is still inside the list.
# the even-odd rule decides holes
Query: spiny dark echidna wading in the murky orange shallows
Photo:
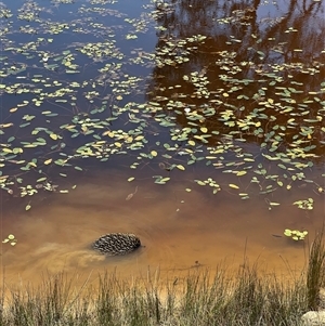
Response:
[[[93,248],[108,256],[127,255],[141,246],[140,238],[130,233],[108,233],[93,243]]]

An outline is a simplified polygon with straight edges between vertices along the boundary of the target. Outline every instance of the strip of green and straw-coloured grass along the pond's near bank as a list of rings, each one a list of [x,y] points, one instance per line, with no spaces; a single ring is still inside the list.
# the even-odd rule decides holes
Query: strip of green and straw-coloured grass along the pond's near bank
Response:
[[[106,273],[98,284],[86,282],[76,290],[61,274],[37,289],[4,295],[2,288],[0,325],[301,325],[300,317],[318,308],[324,260],[322,232],[311,247],[306,273],[297,279],[260,275],[258,265],[244,263],[233,275],[219,266],[214,275],[196,269],[186,277],[165,281],[154,274],[127,282]]]

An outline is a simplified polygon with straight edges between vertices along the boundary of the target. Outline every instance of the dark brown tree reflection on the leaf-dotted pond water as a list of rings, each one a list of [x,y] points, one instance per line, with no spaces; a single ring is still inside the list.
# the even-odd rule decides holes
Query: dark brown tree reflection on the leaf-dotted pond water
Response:
[[[171,3],[176,9],[158,19],[165,29],[159,34],[156,51],[168,49],[165,57],[172,60],[181,56],[184,48],[190,61],[182,65],[157,65],[147,97],[164,103],[166,108],[170,107],[167,104],[170,99],[179,101],[180,110],[213,107],[216,114],[204,122],[209,130],[219,131],[220,136],[234,132],[234,136],[259,145],[281,126],[285,132],[280,138],[278,152],[285,152],[292,143],[297,129],[308,126],[307,118],[315,119],[315,132],[310,141],[315,147],[311,152],[321,156],[318,162],[324,164],[324,87],[321,91],[325,78],[324,2]],[[194,47],[192,42],[178,45],[179,39],[197,34],[207,39],[194,41]],[[197,73],[192,75],[197,82],[184,81],[184,75],[191,79],[193,73]],[[290,89],[287,93],[280,91],[287,88]],[[306,102],[313,95],[320,96],[318,100]],[[276,105],[269,105],[268,101]],[[230,122],[224,123],[226,109],[242,119],[244,129],[231,125],[231,115]],[[302,114],[306,109],[308,113]],[[249,115],[252,119],[247,119]],[[291,117],[298,117],[295,126],[288,126]],[[185,114],[178,115],[177,120],[183,127],[191,127]],[[212,135],[209,144],[218,144],[220,136]]]

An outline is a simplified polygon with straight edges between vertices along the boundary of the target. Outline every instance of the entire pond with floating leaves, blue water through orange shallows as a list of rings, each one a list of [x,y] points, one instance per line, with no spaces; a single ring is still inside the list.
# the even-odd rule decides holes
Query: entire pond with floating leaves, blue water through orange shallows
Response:
[[[0,3],[6,283],[245,259],[303,269],[325,217],[324,1],[12,2]],[[112,232],[143,247],[94,252]]]

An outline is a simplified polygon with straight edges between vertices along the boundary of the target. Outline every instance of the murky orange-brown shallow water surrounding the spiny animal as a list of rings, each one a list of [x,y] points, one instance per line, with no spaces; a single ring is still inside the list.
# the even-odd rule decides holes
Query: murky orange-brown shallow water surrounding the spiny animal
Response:
[[[138,192],[126,200],[136,185]],[[152,180],[128,183],[118,172],[101,173],[28,212],[3,210],[1,236],[13,233],[18,240],[15,247],[2,244],[4,282],[38,284],[44,275],[62,271],[88,277],[116,270],[129,277],[146,275],[150,269],[164,276],[195,266],[213,270],[224,261],[238,266],[244,256],[277,274],[288,275],[287,264],[298,272],[303,269],[323,207],[307,216],[288,197],[287,205],[269,211],[260,199],[243,201],[226,192],[213,196],[197,187],[186,193],[185,187],[156,185]],[[273,236],[286,227],[309,230],[306,245]],[[90,244],[110,232],[135,233],[144,247],[119,258],[94,252]]]

